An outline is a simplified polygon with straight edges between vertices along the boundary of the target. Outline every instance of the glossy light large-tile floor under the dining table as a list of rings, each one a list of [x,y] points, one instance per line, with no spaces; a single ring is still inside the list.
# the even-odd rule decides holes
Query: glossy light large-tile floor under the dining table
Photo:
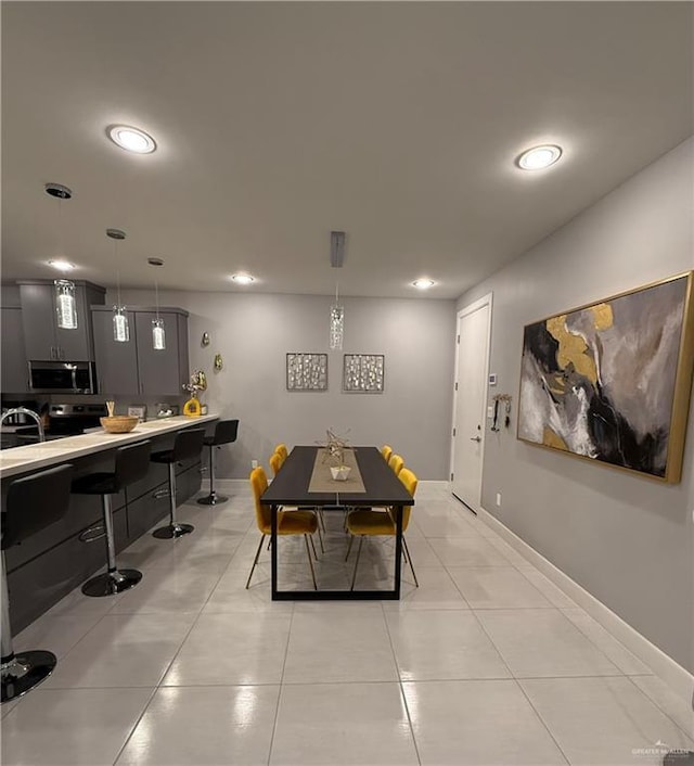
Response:
[[[54,675],[3,705],[4,766],[659,764],[694,748],[691,708],[452,499],[420,483],[399,602],[270,601],[250,496],[189,502],[180,540],[119,556],[133,590],[79,589],[15,639]],[[321,585],[348,587],[342,515]],[[318,541],[317,541],[318,546]],[[319,549],[320,550],[320,549]],[[282,580],[309,588],[300,539]],[[358,585],[387,585],[393,541],[364,544]]]

